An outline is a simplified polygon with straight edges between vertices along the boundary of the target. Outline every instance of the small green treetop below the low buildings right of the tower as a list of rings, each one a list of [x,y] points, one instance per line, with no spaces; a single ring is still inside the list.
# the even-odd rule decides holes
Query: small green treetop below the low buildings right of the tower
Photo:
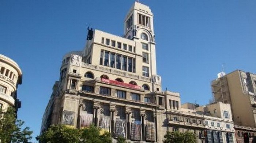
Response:
[[[167,132],[163,143],[196,143],[196,135],[193,132]]]

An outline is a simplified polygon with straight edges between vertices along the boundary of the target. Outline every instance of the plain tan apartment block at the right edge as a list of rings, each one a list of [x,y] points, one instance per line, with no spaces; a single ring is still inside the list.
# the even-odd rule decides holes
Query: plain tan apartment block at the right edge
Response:
[[[237,142],[251,142],[256,132],[256,75],[241,70],[221,72],[211,87],[215,102],[231,105]]]

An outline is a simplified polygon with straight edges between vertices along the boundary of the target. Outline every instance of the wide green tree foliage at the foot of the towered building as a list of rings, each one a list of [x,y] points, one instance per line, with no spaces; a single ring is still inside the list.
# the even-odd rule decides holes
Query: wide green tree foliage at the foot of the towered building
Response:
[[[89,128],[75,129],[65,125],[52,125],[42,135],[37,136],[41,143],[112,143],[109,132],[102,132],[91,125]]]

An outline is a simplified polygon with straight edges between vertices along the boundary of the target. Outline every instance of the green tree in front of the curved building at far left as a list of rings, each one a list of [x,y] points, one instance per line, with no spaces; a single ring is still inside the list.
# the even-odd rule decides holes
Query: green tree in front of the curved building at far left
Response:
[[[15,109],[8,107],[0,110],[0,140],[1,143],[29,143],[32,131],[29,127],[22,129],[24,122],[16,119]]]

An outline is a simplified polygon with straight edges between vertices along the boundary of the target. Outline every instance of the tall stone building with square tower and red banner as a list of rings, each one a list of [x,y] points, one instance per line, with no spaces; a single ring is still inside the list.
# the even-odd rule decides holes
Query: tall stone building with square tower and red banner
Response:
[[[125,17],[123,37],[88,30],[83,51],[63,57],[41,133],[50,124],[83,128],[93,123],[114,138],[162,142],[167,100],[177,107],[180,101],[178,93],[162,91],[150,8],[134,3]]]

